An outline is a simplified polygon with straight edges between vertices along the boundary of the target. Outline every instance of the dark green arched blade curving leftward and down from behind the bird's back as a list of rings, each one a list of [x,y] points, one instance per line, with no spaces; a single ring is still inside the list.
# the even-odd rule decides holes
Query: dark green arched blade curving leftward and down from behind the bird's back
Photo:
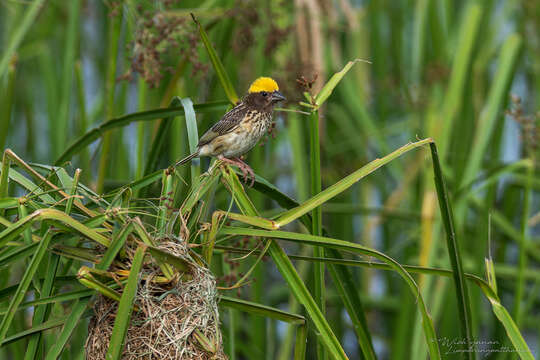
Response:
[[[197,113],[207,113],[217,110],[224,110],[227,108],[228,104],[229,103],[225,101],[208,102],[204,104],[195,104],[194,109]],[[75,140],[75,142],[71,144],[66,151],[60,155],[60,157],[58,157],[54,164],[61,165],[65,161],[69,161],[73,155],[78,154],[84,147],[90,145],[97,139],[101,138],[106,132],[113,129],[121,128],[137,121],[153,121],[166,117],[183,115],[184,108],[182,106],[178,106],[175,108],[141,111],[107,120]]]

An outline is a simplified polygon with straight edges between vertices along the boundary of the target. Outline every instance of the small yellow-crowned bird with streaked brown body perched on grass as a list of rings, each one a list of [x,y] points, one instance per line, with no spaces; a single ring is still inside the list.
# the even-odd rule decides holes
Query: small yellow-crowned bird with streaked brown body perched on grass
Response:
[[[283,100],[285,97],[279,92],[274,79],[258,78],[251,84],[242,101],[204,133],[197,144],[197,151],[174,166],[185,164],[196,157],[214,156],[238,166],[244,174],[244,181],[247,181],[249,175],[253,186],[255,173],[240,157],[251,150],[268,131],[272,124],[274,106]]]

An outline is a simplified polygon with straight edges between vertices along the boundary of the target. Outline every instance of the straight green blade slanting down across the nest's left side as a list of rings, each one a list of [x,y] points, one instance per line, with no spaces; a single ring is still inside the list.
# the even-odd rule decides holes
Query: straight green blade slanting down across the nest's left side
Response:
[[[133,311],[133,304],[135,302],[135,295],[137,293],[139,276],[145,251],[145,245],[140,245],[135,251],[133,263],[129,271],[128,282],[122,293],[120,304],[118,304],[118,312],[116,313],[116,319],[114,320],[114,327],[109,342],[109,348],[107,350],[107,354],[105,355],[105,359],[107,360],[119,360],[122,356],[124,339],[127,334],[129,320],[131,319],[131,313]]]

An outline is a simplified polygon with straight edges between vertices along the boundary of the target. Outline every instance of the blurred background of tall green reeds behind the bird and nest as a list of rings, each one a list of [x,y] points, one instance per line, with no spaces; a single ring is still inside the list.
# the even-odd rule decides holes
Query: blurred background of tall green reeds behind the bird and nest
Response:
[[[401,145],[433,137],[464,269],[484,277],[484,259],[492,257],[499,297],[538,355],[540,2],[2,0],[0,149],[70,173],[81,168],[81,181],[98,193],[187,155],[183,118],[163,133],[159,120],[128,118],[74,156],[60,158],[107,120],[167,107],[173,96],[195,104],[227,99],[190,12],[238,94],[256,77],[272,76],[288,98],[287,109],[306,110],[298,105],[305,101],[302,84],[317,93],[348,61],[368,60],[353,66],[320,110],[322,187]],[[197,115],[199,133],[224,112]],[[275,137],[247,161],[281,191],[306,200],[308,116],[278,111],[275,121]],[[159,152],[152,157],[150,149]],[[209,160],[201,163],[206,169]],[[189,166],[180,171],[189,177]],[[276,213],[275,202],[249,193],[265,216]],[[322,209],[334,238],[376,248],[401,264],[450,268],[426,150],[393,161]],[[304,247],[287,251],[312,255]],[[308,286],[311,264],[295,262]],[[378,358],[426,358],[415,299],[403,282],[389,271],[351,271]],[[302,313],[271,263],[258,266],[254,277],[233,293]],[[438,336],[462,339],[451,279],[416,279]],[[477,356],[516,357],[494,350],[511,347],[504,328],[477,287],[470,285],[469,294],[473,334],[481,343]],[[326,317],[349,357],[361,358],[329,279]],[[290,358],[294,334],[286,324],[240,312],[224,314],[223,323],[232,359]],[[316,356],[313,339],[310,332],[307,358]],[[443,358],[460,358],[444,344]]]

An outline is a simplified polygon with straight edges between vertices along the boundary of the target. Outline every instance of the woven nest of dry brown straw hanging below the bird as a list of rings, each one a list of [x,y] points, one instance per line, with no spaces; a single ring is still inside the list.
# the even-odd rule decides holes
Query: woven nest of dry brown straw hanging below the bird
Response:
[[[189,256],[181,239],[162,239],[159,248],[188,261],[191,278],[152,281],[162,273],[154,263],[144,264],[135,301],[139,311],[132,313],[122,359],[227,359],[214,276]],[[87,359],[105,359],[117,310],[118,302],[99,296],[88,326]]]

